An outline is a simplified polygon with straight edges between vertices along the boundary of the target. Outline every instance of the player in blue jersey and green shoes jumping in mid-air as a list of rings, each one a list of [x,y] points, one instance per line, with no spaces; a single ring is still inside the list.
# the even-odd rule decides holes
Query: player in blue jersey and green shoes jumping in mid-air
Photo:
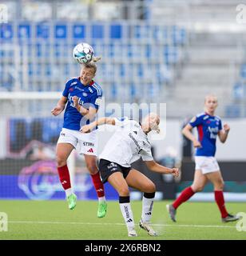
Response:
[[[67,159],[72,150],[76,149],[79,154],[84,154],[86,166],[97,190],[99,200],[97,217],[101,218],[105,216],[107,205],[104,186],[97,168],[97,130],[93,130],[91,134],[79,132],[81,126],[94,120],[100,106],[102,90],[93,81],[96,72],[95,63],[89,62],[83,65],[80,77],[71,78],[66,82],[62,98],[51,113],[57,116],[65,109],[64,123],[58,139],[56,154],[58,174],[65,190],[69,209],[73,210],[76,206],[77,197],[71,187]]]

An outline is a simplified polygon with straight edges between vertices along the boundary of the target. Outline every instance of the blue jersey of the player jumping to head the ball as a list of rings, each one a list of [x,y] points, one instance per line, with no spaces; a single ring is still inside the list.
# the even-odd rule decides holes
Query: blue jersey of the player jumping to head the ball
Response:
[[[73,106],[73,96],[77,96],[79,104],[86,109],[89,110],[89,106],[91,106],[98,110],[101,103],[102,90],[94,81],[88,86],[84,86],[79,78],[71,78],[66,82],[62,95],[68,98],[65,107],[63,128],[80,130],[81,126],[89,124],[89,120],[83,118]]]

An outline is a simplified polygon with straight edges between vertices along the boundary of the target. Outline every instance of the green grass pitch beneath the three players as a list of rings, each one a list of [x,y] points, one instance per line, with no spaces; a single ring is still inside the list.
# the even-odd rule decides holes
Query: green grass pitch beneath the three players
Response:
[[[97,218],[97,201],[78,201],[68,210],[65,201],[0,201],[0,212],[8,214],[8,231],[2,239],[246,239],[236,222],[222,223],[214,202],[186,202],[173,223],[166,212],[168,201],[155,202],[153,226],[159,236],[149,237],[136,225],[138,237],[129,238],[118,202],[108,202],[105,218]],[[131,202],[135,223],[141,217],[141,202]],[[227,203],[229,212],[244,212],[246,203]]]

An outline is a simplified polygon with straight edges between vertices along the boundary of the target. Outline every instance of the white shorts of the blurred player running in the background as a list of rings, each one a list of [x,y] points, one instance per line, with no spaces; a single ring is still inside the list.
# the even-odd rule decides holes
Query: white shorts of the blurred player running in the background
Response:
[[[202,174],[208,174],[220,170],[220,166],[214,157],[195,157],[196,170],[201,170]]]

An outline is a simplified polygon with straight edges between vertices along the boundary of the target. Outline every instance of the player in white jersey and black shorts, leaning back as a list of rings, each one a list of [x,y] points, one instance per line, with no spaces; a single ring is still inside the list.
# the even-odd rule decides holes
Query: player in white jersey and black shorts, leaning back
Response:
[[[157,235],[153,227],[150,226],[156,186],[140,171],[133,169],[131,164],[142,158],[149,170],[160,174],[173,174],[174,176],[179,174],[177,168],[170,169],[157,164],[153,160],[147,134],[151,130],[158,132],[159,122],[160,118],[157,114],[152,113],[144,118],[142,124],[128,118],[99,118],[97,121],[81,128],[83,133],[88,133],[94,127],[103,124],[118,126],[100,154],[99,171],[102,182],[109,182],[119,194],[121,214],[125,219],[129,236],[137,236],[130,206],[129,186],[144,193],[139,226],[146,230],[149,235]]]

